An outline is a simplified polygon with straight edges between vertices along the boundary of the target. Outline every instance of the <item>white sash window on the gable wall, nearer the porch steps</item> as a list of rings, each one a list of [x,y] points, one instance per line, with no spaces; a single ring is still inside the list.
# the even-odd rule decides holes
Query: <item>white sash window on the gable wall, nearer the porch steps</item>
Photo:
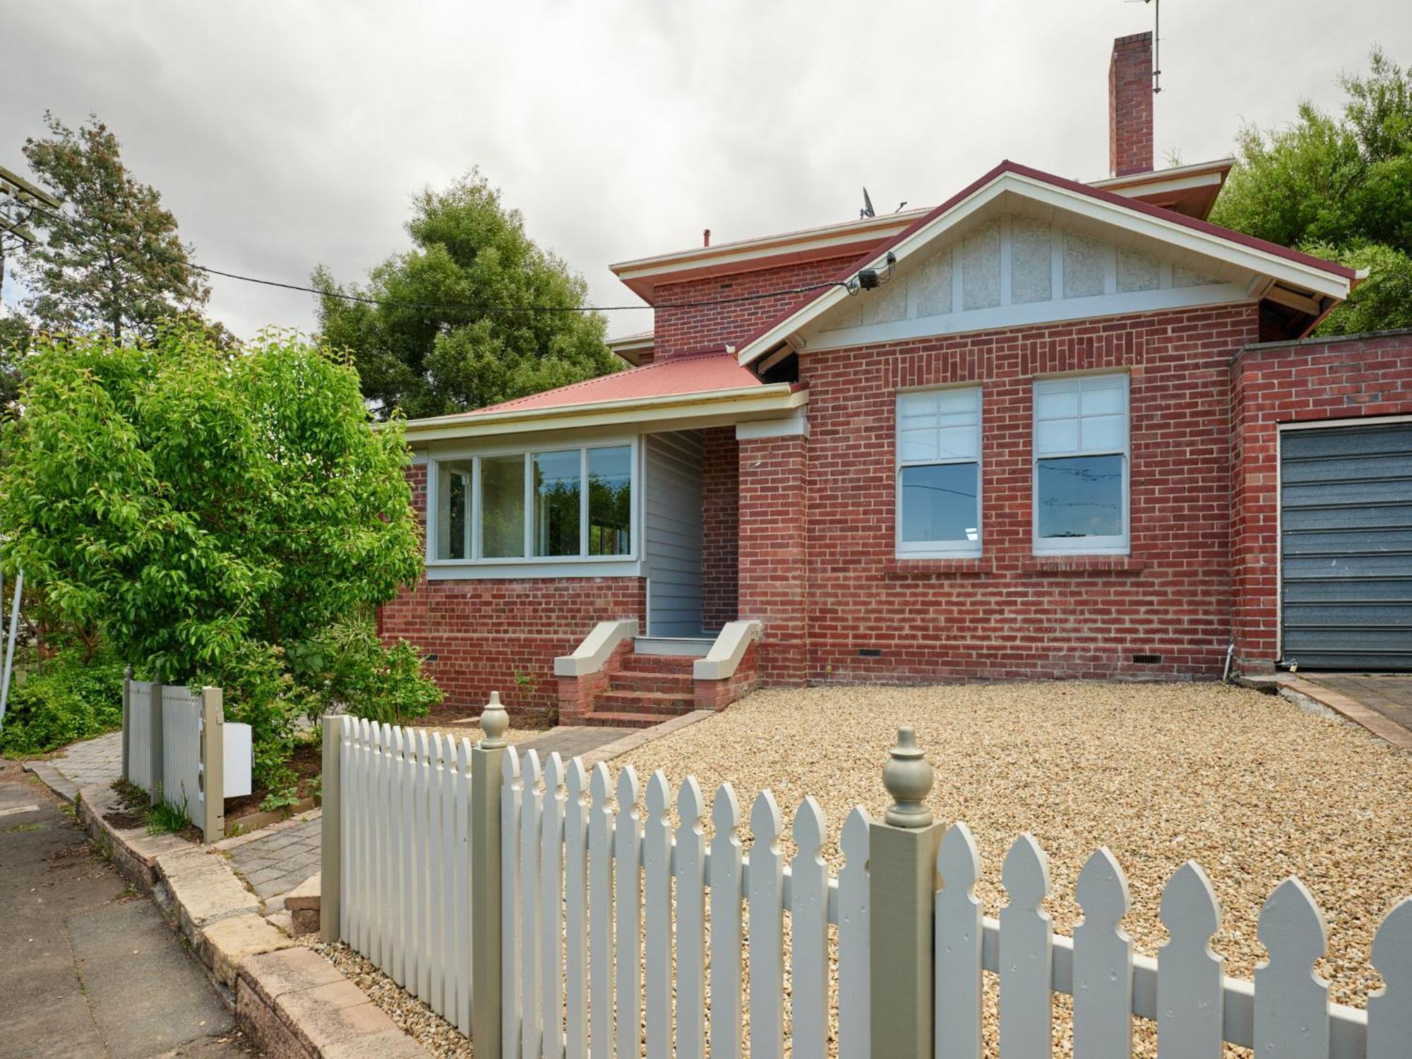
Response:
[[[980,555],[980,387],[897,395],[897,555]]]

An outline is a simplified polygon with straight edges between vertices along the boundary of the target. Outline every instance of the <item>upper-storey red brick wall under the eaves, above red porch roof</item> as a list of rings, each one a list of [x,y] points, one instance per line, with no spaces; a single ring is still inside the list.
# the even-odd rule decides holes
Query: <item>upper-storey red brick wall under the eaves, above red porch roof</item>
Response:
[[[706,277],[675,284],[658,284],[657,302],[700,302],[717,298],[741,298],[764,291],[784,291],[825,282],[858,258],[857,251],[822,261],[761,268],[726,277]],[[700,308],[658,308],[654,313],[654,349],[658,360],[719,346],[738,345],[757,329],[774,321],[803,295],[777,294],[770,298]]]

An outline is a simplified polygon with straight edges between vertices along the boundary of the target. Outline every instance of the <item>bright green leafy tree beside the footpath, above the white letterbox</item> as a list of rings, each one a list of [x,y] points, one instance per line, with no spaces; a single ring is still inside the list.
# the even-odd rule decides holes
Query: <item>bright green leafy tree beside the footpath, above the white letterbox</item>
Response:
[[[415,652],[376,640],[357,679],[329,672],[333,630],[421,572],[401,429],[371,428],[352,367],[277,333],[225,350],[193,322],[40,340],[25,367],[0,534],[47,614],[160,681],[226,688],[271,788],[329,681],[415,679]]]

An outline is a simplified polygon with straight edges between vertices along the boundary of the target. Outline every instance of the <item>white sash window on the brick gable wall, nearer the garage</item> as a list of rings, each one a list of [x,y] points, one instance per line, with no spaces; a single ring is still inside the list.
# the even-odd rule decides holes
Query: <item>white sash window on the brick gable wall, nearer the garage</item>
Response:
[[[1035,381],[1035,555],[1127,554],[1128,377]]]

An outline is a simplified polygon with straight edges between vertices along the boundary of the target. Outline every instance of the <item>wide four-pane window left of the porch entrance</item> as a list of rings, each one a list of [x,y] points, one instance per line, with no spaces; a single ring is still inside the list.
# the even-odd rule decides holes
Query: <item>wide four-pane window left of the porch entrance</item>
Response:
[[[433,558],[505,561],[633,552],[633,446],[439,460]]]

